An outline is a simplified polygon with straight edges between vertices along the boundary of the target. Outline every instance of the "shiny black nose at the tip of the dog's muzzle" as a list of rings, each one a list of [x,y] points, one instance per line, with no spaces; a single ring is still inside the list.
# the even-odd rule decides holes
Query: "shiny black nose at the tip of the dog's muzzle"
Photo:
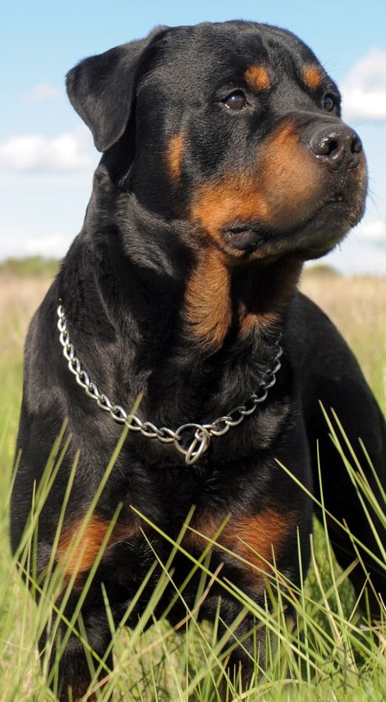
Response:
[[[346,124],[328,124],[314,131],[309,140],[313,154],[333,171],[356,168],[363,150],[361,140]]]

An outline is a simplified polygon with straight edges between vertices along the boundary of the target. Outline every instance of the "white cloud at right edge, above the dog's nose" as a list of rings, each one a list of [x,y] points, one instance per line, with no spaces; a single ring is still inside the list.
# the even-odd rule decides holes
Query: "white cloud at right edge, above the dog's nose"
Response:
[[[372,48],[342,82],[345,119],[386,120],[386,51]]]

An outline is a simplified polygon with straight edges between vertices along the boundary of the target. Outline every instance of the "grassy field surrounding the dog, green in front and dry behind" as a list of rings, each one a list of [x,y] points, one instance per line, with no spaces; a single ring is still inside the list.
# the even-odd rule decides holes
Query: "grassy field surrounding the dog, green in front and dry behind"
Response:
[[[36,636],[52,614],[47,597],[39,611],[15,574],[8,549],[8,496],[22,389],[25,331],[49,279],[44,274],[0,270],[0,702],[55,700],[36,659]],[[338,326],[354,350],[382,409],[385,404],[386,279],[343,279],[331,272],[307,272],[302,289]],[[364,517],[365,518],[365,517]],[[279,609],[255,612],[266,620],[275,645],[265,675],[251,691],[229,687],[237,701],[370,701],[386,697],[385,618],[360,617],[347,574],[331,558],[324,531],[317,528],[315,553],[304,590],[295,593],[298,629],[286,628]],[[167,577],[167,574],[166,574]],[[279,579],[279,576],[278,576]],[[253,603],[245,607],[253,610]],[[51,609],[50,609],[51,608]],[[254,611],[254,610],[253,610]],[[151,612],[148,613],[151,621]],[[384,615],[383,615],[384,617]],[[116,672],[98,694],[107,701],[215,702],[222,660],[211,628],[194,613],[181,629],[161,621],[143,634],[143,622],[117,635]]]

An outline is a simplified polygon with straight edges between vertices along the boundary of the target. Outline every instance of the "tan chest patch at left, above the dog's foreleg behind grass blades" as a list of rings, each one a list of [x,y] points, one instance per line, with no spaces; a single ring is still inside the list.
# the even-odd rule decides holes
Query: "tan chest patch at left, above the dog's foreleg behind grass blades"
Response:
[[[83,522],[84,520],[80,519],[69,529],[62,531],[60,536],[56,557],[65,569],[66,578],[71,578],[74,573],[81,576],[91,569],[110,526],[110,522],[94,515],[89,519],[81,541],[76,543]],[[119,541],[128,541],[137,534],[138,529],[134,525],[115,524],[106,548]]]

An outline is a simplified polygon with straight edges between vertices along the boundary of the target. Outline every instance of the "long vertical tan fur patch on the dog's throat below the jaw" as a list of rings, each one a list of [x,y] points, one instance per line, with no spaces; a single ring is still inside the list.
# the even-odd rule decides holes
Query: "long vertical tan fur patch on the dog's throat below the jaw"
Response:
[[[206,249],[187,283],[185,317],[202,347],[217,350],[232,318],[230,276],[224,256]]]

